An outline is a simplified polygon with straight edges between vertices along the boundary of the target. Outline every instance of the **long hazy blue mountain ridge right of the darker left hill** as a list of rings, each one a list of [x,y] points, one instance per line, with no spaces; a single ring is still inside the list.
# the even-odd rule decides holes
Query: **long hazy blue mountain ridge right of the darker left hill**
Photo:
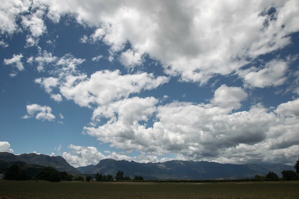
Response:
[[[143,176],[144,179],[241,179],[253,178],[255,175],[266,175],[273,171],[281,176],[283,170],[294,170],[293,166],[284,164],[220,164],[215,162],[195,162],[172,160],[163,163],[137,163],[134,161],[101,160],[97,165],[77,168],[85,174],[102,173],[115,175],[123,171],[125,176]]]

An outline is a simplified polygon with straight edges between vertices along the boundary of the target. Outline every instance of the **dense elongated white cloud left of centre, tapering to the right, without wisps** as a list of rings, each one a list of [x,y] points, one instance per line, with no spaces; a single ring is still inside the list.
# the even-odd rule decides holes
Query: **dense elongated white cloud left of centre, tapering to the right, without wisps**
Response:
[[[67,76],[60,86],[61,94],[68,100],[74,100],[80,106],[91,104],[106,105],[114,100],[129,97],[130,94],[154,89],[166,82],[168,78],[155,78],[152,74],[140,73],[121,75],[116,71],[98,71],[78,82],[78,77]]]

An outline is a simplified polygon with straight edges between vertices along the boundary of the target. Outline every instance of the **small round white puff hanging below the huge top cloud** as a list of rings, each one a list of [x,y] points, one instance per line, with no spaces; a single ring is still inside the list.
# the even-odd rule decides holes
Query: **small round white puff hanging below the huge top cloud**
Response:
[[[142,56],[133,50],[122,52],[120,62],[127,68],[134,68],[135,66],[142,65]]]

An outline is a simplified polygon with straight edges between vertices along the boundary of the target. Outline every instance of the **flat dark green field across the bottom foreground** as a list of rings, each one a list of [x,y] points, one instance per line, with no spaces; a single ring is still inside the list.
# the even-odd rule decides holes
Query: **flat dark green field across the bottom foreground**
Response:
[[[299,199],[299,182],[97,183],[0,181],[0,199]]]

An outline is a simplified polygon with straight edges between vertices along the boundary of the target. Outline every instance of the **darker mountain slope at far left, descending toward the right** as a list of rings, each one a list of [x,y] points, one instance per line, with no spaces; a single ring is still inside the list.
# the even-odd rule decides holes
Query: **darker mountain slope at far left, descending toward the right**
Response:
[[[76,168],[71,166],[61,156],[48,156],[43,154],[29,153],[14,155],[8,152],[0,152],[0,160],[6,162],[24,162],[30,165],[41,165],[45,167],[55,167],[58,171],[66,171],[68,173],[80,173]]]

